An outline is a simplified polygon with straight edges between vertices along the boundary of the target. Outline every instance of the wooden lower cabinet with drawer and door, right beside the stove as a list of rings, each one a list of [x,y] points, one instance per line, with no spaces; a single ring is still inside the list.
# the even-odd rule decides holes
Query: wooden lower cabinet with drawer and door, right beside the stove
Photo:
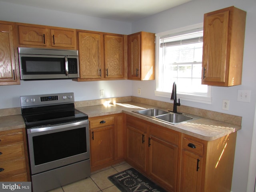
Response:
[[[123,115],[89,118],[91,170],[123,160]]]

